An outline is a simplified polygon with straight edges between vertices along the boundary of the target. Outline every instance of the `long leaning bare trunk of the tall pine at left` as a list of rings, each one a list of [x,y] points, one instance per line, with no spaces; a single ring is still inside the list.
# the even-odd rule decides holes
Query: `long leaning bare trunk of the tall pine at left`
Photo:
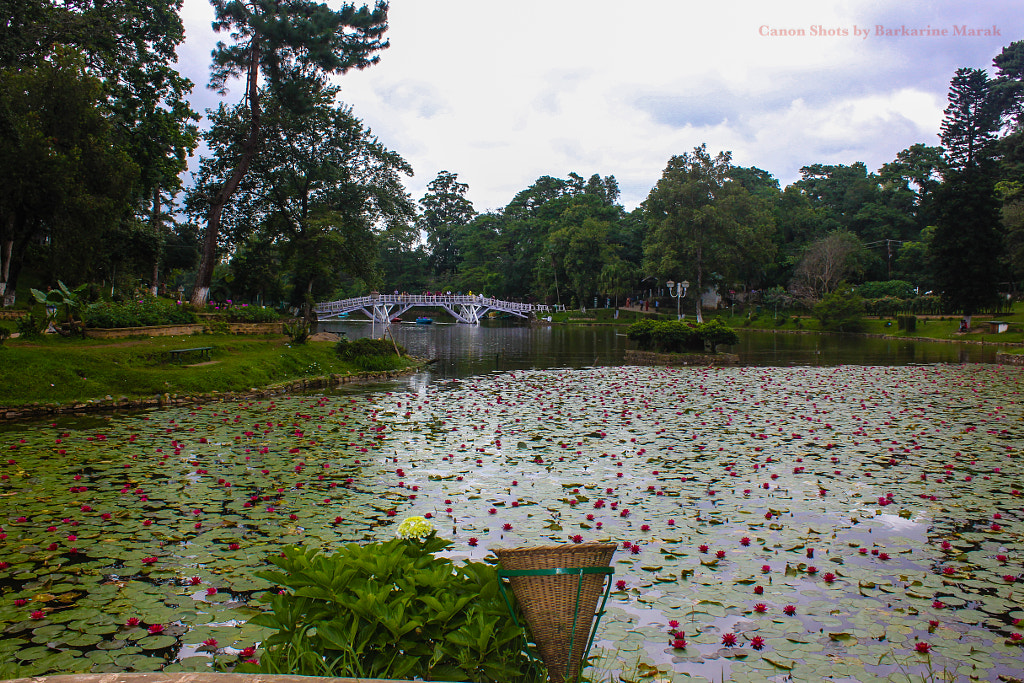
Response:
[[[253,38],[249,47],[249,71],[247,73],[246,96],[249,100],[249,135],[242,143],[242,155],[239,158],[238,166],[231,172],[220,191],[213,198],[210,204],[210,214],[206,223],[206,234],[203,239],[203,258],[200,260],[199,270],[196,273],[196,287],[193,288],[191,304],[194,306],[205,306],[210,296],[210,285],[213,283],[213,267],[217,264],[217,234],[220,232],[220,215],[224,211],[224,205],[239,188],[242,178],[245,177],[249,165],[256,156],[256,148],[259,144],[259,43]]]

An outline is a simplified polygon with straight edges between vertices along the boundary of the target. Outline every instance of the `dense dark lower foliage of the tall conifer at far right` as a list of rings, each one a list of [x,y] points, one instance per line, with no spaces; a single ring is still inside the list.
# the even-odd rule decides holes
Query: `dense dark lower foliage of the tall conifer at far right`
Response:
[[[932,279],[943,304],[970,319],[998,295],[999,207],[991,177],[977,166],[952,173],[935,197]]]

